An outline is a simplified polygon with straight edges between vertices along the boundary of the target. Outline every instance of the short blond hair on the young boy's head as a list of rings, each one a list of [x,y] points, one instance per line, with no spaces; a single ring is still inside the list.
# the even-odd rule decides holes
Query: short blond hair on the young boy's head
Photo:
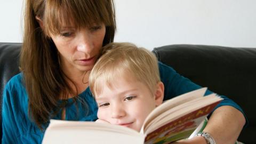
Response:
[[[102,47],[101,54],[89,77],[94,97],[101,94],[103,86],[115,86],[120,76],[128,82],[145,84],[154,94],[160,77],[158,61],[152,52],[132,43],[110,43]]]

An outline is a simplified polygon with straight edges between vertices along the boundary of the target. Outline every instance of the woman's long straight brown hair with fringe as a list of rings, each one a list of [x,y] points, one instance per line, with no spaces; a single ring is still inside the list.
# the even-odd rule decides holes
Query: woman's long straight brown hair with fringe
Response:
[[[27,0],[24,36],[20,54],[29,102],[29,115],[40,129],[58,113],[60,94],[75,93],[60,68],[58,50],[50,35],[59,34],[63,24],[76,28],[104,23],[103,46],[113,42],[116,30],[113,0]],[[35,17],[43,21],[43,29]]]

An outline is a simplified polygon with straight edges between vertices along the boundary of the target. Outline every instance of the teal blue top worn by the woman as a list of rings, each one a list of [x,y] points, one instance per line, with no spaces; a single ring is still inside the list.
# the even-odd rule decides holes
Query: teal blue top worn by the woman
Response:
[[[171,67],[159,62],[159,71],[162,82],[165,85],[164,99],[171,99],[182,93],[199,89],[189,79],[180,76]],[[206,94],[211,93],[207,91]],[[66,120],[73,121],[95,121],[97,119],[97,104],[93,100],[92,93],[87,88],[78,95],[80,100],[87,103],[87,107],[77,101],[77,106],[68,100],[66,105]],[[217,107],[228,105],[243,110],[232,100],[221,96],[224,100]],[[216,107],[216,108],[217,108]],[[244,114],[244,113],[243,113]],[[6,84],[3,93],[3,138],[2,143],[41,143],[44,131],[38,129],[28,116],[28,95],[25,86],[22,84],[22,74],[15,75]],[[60,119],[61,113],[53,119]],[[247,123],[247,122],[246,122]]]

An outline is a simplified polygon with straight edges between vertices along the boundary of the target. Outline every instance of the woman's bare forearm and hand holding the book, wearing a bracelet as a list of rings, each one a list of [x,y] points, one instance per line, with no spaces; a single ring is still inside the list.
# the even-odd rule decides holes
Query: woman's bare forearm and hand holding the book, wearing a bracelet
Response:
[[[216,143],[234,144],[245,124],[241,111],[231,106],[222,106],[214,110],[204,132],[211,134]],[[194,137],[190,140],[181,140],[179,144],[206,143],[204,137]]]

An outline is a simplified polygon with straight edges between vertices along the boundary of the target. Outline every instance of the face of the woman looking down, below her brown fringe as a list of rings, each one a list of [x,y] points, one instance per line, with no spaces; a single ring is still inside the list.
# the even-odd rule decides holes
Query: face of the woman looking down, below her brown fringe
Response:
[[[62,70],[71,74],[91,70],[98,58],[105,33],[106,28],[102,23],[82,29],[63,27],[60,34],[51,36],[59,51]]]

